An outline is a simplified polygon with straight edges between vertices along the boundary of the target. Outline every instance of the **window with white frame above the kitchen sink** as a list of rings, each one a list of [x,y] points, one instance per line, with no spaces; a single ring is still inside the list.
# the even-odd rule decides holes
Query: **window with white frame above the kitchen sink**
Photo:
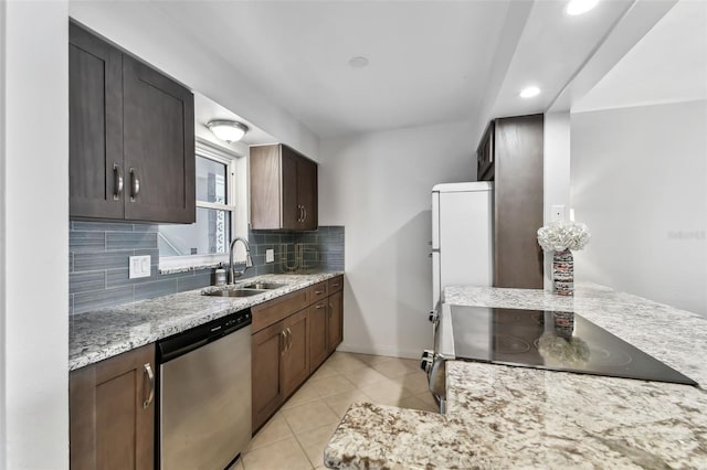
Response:
[[[197,141],[197,222],[159,226],[160,267],[225,259],[235,225],[235,159]]]

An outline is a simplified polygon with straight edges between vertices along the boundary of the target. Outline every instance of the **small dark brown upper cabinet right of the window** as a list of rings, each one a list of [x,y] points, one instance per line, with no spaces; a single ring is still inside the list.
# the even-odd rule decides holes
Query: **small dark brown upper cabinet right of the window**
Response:
[[[284,145],[251,147],[251,228],[315,231],[317,163]]]

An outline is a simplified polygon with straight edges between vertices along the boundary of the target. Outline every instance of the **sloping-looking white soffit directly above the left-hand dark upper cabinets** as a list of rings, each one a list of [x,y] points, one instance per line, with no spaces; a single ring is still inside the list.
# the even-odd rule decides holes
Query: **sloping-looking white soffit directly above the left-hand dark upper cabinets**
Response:
[[[157,2],[159,3],[159,2]],[[281,142],[318,160],[319,141],[287,110],[249,83],[208,45],[172,21],[155,2],[70,1],[71,17]]]

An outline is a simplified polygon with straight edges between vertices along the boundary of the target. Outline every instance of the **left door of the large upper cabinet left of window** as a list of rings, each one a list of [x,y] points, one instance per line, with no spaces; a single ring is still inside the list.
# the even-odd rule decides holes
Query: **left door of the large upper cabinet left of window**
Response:
[[[68,26],[68,194],[72,217],[123,218],[123,54]]]

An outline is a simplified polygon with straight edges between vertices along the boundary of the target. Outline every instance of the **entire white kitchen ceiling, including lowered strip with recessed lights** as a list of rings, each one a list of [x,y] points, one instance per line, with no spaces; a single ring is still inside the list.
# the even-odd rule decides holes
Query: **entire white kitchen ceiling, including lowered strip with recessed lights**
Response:
[[[542,113],[633,3],[151,2],[320,138]],[[529,84],[542,93],[523,100]]]

